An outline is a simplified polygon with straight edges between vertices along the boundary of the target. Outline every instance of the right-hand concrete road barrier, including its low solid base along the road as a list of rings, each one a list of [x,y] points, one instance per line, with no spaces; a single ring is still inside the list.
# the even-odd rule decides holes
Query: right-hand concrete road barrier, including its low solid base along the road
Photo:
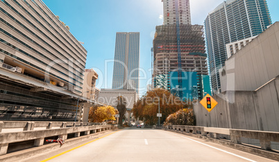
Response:
[[[257,156],[263,156],[268,159],[279,161],[278,152],[274,152],[271,141],[279,142],[279,132],[271,131],[253,131],[243,129],[223,129],[214,127],[198,127],[198,126],[185,126],[185,125],[168,125],[163,129],[167,131],[175,131],[177,133],[183,133],[187,136],[194,136],[196,138],[202,138],[212,143],[238,149],[243,152],[256,154]],[[230,140],[221,140],[220,136],[228,136]],[[260,141],[259,147],[251,147],[251,145],[242,145],[242,138],[255,138]],[[228,139],[228,138],[227,138]]]

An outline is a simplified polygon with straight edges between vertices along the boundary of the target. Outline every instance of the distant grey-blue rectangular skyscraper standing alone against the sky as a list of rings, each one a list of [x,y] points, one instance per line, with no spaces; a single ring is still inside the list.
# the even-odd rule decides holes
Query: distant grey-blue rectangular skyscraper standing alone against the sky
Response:
[[[112,89],[134,89],[139,93],[140,33],[117,32]]]

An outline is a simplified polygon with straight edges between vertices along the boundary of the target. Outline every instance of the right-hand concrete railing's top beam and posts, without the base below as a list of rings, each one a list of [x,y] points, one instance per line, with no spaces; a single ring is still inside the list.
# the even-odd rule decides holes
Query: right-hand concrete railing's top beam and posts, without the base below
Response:
[[[260,140],[262,149],[271,149],[271,142],[279,142],[279,132],[273,131],[253,131],[244,129],[223,129],[214,127],[198,127],[198,126],[184,126],[184,125],[169,125],[164,129],[172,131],[180,131],[182,133],[201,133],[201,136],[207,136],[208,133],[212,133],[213,137],[218,139],[219,136],[228,135],[232,143],[242,143],[241,138],[253,138]]]

